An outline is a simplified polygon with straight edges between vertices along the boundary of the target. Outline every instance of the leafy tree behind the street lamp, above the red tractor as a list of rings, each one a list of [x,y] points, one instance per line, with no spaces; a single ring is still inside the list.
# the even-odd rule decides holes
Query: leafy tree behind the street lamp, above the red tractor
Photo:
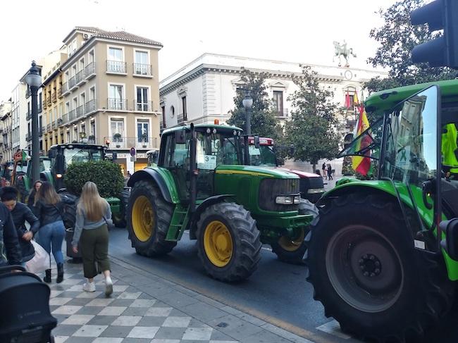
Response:
[[[249,92],[253,99],[251,109],[252,133],[261,137],[278,139],[282,135],[282,129],[273,111],[273,101],[268,99],[267,86],[265,85],[268,76],[268,73],[254,73],[242,68],[240,79],[245,84],[245,87],[237,88],[234,97],[235,108],[230,111],[232,116],[228,123],[245,130],[247,113],[243,107],[242,100],[245,98],[245,92]]]

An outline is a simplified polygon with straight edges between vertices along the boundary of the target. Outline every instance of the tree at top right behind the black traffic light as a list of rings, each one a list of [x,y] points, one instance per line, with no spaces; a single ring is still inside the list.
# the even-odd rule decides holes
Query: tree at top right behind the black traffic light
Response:
[[[369,36],[380,43],[376,55],[369,58],[372,66],[388,68],[388,78],[374,77],[366,82],[369,92],[413,85],[415,83],[448,80],[456,72],[450,68],[431,68],[427,63],[413,65],[411,50],[414,46],[434,39],[440,32],[429,32],[428,25],[411,25],[410,12],[423,5],[424,0],[400,0],[386,11],[380,8],[382,27],[373,28]]]

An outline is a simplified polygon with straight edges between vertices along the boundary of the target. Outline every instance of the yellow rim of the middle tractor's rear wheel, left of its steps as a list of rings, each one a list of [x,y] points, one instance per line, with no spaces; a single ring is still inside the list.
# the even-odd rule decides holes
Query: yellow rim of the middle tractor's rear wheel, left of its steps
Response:
[[[132,228],[135,236],[146,242],[154,231],[154,209],[151,201],[144,195],[135,199],[132,208]]]

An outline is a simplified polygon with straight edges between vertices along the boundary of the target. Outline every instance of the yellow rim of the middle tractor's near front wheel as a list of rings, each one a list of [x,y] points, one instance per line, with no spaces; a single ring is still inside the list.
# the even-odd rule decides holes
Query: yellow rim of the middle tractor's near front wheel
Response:
[[[221,221],[213,220],[204,232],[205,254],[217,267],[227,266],[233,256],[233,239],[230,231]]]

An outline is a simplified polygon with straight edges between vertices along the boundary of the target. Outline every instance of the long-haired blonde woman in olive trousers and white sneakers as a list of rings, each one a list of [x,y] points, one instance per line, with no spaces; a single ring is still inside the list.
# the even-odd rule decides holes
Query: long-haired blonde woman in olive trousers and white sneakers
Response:
[[[113,282],[110,277],[108,258],[109,233],[106,221],[111,219],[108,202],[100,197],[97,185],[86,182],[76,210],[73,251],[78,253],[80,242],[82,267],[87,282],[82,286],[85,292],[95,292],[94,277],[97,275],[96,263],[105,276],[105,294],[113,293]]]

